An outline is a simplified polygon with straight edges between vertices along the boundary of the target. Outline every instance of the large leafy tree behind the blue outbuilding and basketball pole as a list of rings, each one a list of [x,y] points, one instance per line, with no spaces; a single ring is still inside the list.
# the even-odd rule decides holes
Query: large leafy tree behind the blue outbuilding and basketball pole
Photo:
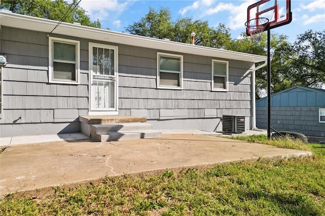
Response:
[[[266,33],[261,41],[254,38],[233,40],[230,50],[266,55]],[[271,93],[300,85],[321,88],[325,84],[325,30],[308,30],[300,34],[294,43],[283,34],[271,34]],[[265,96],[267,67],[256,72],[256,98]]]

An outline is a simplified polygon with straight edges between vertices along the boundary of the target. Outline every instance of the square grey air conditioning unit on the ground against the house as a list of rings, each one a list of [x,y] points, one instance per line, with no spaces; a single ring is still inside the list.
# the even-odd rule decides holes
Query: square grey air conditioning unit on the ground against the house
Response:
[[[225,133],[245,132],[244,116],[222,116],[222,131]]]

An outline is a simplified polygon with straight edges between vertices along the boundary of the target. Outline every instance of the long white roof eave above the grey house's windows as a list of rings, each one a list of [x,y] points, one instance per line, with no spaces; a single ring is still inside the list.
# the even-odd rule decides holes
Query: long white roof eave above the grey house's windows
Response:
[[[51,32],[58,21],[14,14],[0,10],[0,25],[29,29],[42,32]],[[71,37],[105,41],[157,50],[188,53],[194,55],[211,56],[216,58],[234,59],[248,62],[266,61],[266,56],[240,53],[222,49],[195,46],[190,44],[153,39],[139,35],[110,31],[106,29],[81,26],[62,22],[52,33],[69,35]]]

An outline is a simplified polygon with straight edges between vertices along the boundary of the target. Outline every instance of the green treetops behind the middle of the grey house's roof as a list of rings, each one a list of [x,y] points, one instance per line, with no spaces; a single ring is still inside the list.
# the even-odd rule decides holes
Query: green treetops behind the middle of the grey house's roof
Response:
[[[149,8],[145,17],[127,26],[125,30],[131,34],[158,39],[168,38],[186,44],[190,43],[191,32],[195,32],[194,44],[214,48],[225,48],[231,40],[229,28],[223,24],[210,28],[208,21],[193,18],[178,18],[173,22],[170,11],[166,8],[160,8],[159,11]]]

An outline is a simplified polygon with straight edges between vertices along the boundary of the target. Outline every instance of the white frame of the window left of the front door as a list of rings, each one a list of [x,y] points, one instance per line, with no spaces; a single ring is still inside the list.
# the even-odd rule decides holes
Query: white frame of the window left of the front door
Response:
[[[76,60],[75,61],[60,61],[63,63],[75,63],[76,65],[76,81],[66,80],[66,79],[53,79],[53,62],[54,62],[54,42],[63,43],[63,44],[72,44],[76,46]],[[79,84],[80,81],[80,42],[69,39],[62,38],[53,38],[49,37],[49,83],[61,83],[61,84]]]

